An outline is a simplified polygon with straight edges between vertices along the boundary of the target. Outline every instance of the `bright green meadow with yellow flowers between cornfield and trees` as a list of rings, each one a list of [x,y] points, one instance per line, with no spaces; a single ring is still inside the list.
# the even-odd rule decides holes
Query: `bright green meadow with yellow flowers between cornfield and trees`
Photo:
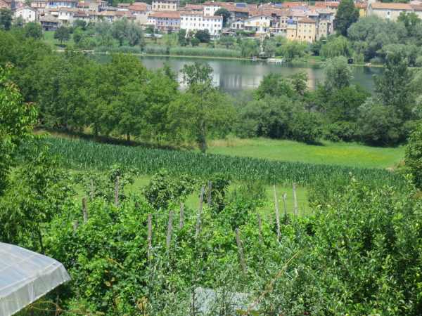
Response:
[[[357,143],[306,145],[291,140],[228,139],[210,142],[210,153],[265,158],[285,162],[335,164],[361,168],[389,168],[404,157],[404,147],[369,147]]]

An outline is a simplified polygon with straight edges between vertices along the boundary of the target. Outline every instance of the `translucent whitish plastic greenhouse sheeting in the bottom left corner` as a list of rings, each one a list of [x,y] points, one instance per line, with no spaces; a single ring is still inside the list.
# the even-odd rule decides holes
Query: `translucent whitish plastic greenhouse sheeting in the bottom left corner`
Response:
[[[68,280],[58,261],[0,242],[1,316],[13,315]]]

